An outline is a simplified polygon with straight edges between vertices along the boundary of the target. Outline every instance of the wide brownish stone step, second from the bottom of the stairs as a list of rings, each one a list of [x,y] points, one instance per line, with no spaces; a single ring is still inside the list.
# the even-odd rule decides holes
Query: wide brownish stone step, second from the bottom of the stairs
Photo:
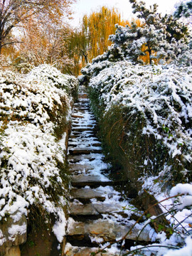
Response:
[[[103,219],[78,222],[70,217],[68,222],[67,235],[89,235],[97,239],[102,238],[103,242],[115,241],[124,236],[129,240],[149,242],[149,231],[154,231],[149,225],[146,225],[142,230],[142,225],[134,225],[134,221],[132,220],[130,220],[130,222],[127,221],[126,224],[115,220]],[[142,232],[140,233],[141,230]]]

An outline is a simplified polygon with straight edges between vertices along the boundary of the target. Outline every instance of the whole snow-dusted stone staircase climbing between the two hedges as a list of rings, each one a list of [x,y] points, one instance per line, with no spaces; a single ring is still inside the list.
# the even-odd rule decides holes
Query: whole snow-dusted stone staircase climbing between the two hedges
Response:
[[[110,244],[106,252],[97,255],[119,255],[120,250],[113,242],[124,237],[135,221],[131,219],[132,210],[127,210],[129,201],[114,188],[121,181],[112,181],[107,176],[110,166],[104,161],[86,94],[82,93],[75,103],[72,121],[68,143],[72,177],[70,212],[64,255],[90,256]],[[139,224],[135,225],[127,241],[137,240],[141,229]],[[148,241],[149,230],[144,230],[139,240]]]

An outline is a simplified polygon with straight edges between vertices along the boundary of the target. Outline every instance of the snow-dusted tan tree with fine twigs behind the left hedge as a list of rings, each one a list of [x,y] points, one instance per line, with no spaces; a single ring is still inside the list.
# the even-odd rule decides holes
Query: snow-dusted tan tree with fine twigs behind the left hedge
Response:
[[[60,70],[73,65],[73,60],[68,57],[66,43],[70,28],[63,26],[62,21],[55,24],[31,17],[23,28],[23,44],[18,47],[19,55],[14,61],[18,70],[27,71],[31,65],[43,63],[54,64]]]

